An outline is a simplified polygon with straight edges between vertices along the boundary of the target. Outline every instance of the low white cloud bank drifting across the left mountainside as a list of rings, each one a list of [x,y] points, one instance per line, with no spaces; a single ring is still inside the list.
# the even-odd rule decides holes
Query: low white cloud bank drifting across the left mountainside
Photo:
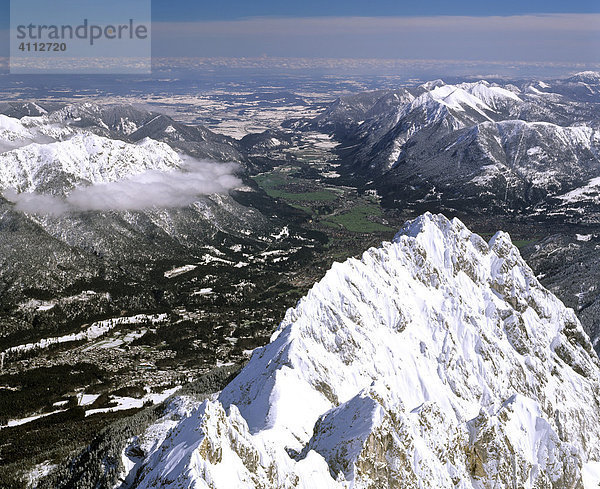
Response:
[[[227,193],[241,185],[235,163],[187,159],[173,172],[150,170],[115,182],[76,187],[66,197],[6,190],[3,197],[30,214],[60,216],[84,211],[139,211],[186,207],[198,197]]]

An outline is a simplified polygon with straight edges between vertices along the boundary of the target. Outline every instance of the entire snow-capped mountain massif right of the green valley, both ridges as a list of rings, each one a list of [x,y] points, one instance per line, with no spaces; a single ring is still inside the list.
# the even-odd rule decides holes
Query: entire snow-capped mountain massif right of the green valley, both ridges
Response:
[[[340,173],[387,206],[531,211],[600,177],[600,98],[578,95],[598,80],[435,80],[340,98],[296,126],[334,133]]]

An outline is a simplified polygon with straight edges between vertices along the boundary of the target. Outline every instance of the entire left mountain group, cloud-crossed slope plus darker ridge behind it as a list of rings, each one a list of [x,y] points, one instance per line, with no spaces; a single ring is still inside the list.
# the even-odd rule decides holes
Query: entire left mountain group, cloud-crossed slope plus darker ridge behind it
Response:
[[[155,276],[198,263],[213,246],[262,249],[289,224],[243,168],[227,164],[244,159],[241,145],[201,126],[131,106],[13,103],[2,111],[11,114],[0,114],[3,332],[71,324],[70,313],[40,320],[58,309],[20,309],[40,296],[95,288],[117,296],[135,283],[127,302],[156,304]]]

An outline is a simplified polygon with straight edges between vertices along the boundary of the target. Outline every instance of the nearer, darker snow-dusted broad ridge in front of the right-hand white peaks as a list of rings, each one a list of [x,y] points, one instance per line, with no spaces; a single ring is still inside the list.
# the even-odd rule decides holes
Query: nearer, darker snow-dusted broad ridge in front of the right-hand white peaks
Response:
[[[444,136],[421,130],[404,146],[382,140],[372,154],[396,163],[370,178],[387,206],[531,212],[596,178],[599,150],[600,133],[585,125],[487,121]]]

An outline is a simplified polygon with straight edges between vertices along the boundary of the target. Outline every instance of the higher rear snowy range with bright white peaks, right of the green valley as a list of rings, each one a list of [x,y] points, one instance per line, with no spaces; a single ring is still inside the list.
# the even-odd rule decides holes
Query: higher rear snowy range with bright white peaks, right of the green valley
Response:
[[[580,94],[584,89],[588,90],[585,96]],[[552,80],[551,83],[522,82],[518,86],[499,85],[485,80],[456,84],[434,80],[419,86],[402,88],[401,91],[404,94],[401,97],[398,96],[399,90],[387,90],[340,98],[311,121],[296,124],[299,128],[333,132],[341,142],[337,148],[343,160],[341,174],[355,179],[358,184],[361,181],[374,180],[378,192],[388,194],[386,205],[390,206],[395,205],[396,196],[400,196],[398,206],[406,204],[406,199],[402,198],[407,193],[406,187],[421,186],[427,194],[434,187],[439,192],[444,185],[435,179],[428,180],[427,171],[423,172],[423,181],[420,178],[415,179],[412,172],[410,178],[402,171],[400,175],[390,175],[390,172],[394,173],[396,167],[408,162],[415,165],[414,172],[421,174],[417,166],[427,165],[432,158],[436,158],[437,153],[442,150],[442,143],[447,147],[453,143],[460,144],[466,131],[476,130],[482,124],[504,121],[549,123],[562,127],[564,132],[569,132],[571,127],[587,127],[593,130],[600,128],[597,111],[600,98],[594,98],[596,95],[593,95],[600,94],[600,85],[597,83],[597,74],[594,73],[582,73],[565,80]],[[394,103],[380,103],[392,99],[395,100]],[[375,107],[378,107],[378,110],[374,110]],[[562,140],[552,139],[552,134],[548,134],[548,137],[545,144],[558,147],[560,151]],[[530,143],[523,139],[520,146],[524,147],[525,151],[535,149],[535,145]],[[435,151],[432,151],[432,148],[435,148]],[[477,159],[480,156],[478,153],[469,155],[466,160],[462,157],[456,158],[452,154],[448,156],[450,157],[445,160],[437,158],[436,161],[436,165],[440,166],[440,171],[444,174],[460,173],[456,169],[464,166],[489,166],[489,162]],[[564,157],[565,155],[561,154],[557,160]],[[537,163],[534,161],[531,164],[535,166]],[[542,161],[542,166],[549,167],[542,171],[554,171],[557,181],[562,177],[569,177],[561,169],[551,168],[553,163],[554,161]],[[519,172],[513,177],[523,180]],[[519,186],[528,185],[529,183]],[[441,192],[442,200],[454,201],[460,197],[453,192],[453,188],[452,184],[450,194]],[[495,193],[499,190],[486,188],[483,193]],[[540,196],[544,192],[544,189],[538,190],[542,191],[534,191],[533,194]],[[515,193],[519,192],[521,189],[517,189]],[[395,196],[392,195],[394,193]],[[501,192],[502,196],[504,193]],[[501,200],[499,195],[498,201]],[[423,197],[424,195],[410,196],[413,201]],[[518,198],[527,200],[523,197],[520,195]],[[496,205],[498,203],[496,202]],[[509,207],[521,207],[523,203],[512,204]]]

